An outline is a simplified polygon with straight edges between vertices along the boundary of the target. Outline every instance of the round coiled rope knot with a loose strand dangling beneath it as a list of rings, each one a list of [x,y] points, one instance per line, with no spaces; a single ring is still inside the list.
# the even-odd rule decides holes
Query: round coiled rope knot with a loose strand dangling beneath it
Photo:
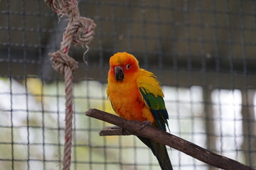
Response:
[[[73,34],[73,42],[82,47],[87,46],[93,39],[96,24],[90,18],[78,17],[73,21],[72,27],[76,28]],[[72,27],[70,29],[72,29]]]

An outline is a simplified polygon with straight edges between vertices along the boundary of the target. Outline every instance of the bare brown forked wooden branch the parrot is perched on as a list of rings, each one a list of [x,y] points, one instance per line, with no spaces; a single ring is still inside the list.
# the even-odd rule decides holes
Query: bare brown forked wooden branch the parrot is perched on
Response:
[[[142,128],[141,122],[137,120],[126,120],[124,118],[120,118],[116,115],[112,115],[104,111],[99,111],[97,109],[89,109],[85,115],[121,127],[103,128],[103,130],[100,132],[100,135],[137,135],[148,137],[152,140],[156,140],[163,143],[164,145],[168,145],[169,147],[188,154],[191,157],[200,160],[201,162],[205,162],[206,164],[215,166],[220,169],[256,170],[233,159],[229,159],[228,157],[223,157],[219,154],[210,152],[207,149],[203,149],[203,147],[194,145],[193,143],[183,140],[175,135],[171,135],[168,132],[159,130],[152,125],[146,125],[144,128]]]

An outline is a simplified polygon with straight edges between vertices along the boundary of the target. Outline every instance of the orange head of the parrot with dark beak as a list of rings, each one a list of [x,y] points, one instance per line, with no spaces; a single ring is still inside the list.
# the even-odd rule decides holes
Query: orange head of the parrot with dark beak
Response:
[[[127,52],[117,52],[110,57],[109,77],[114,77],[116,81],[122,82],[137,73],[138,70],[138,60]]]

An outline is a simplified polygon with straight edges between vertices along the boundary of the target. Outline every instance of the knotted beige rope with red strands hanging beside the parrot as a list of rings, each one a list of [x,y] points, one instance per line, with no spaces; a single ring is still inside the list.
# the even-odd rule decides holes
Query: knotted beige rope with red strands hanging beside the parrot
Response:
[[[70,169],[71,147],[73,137],[73,72],[78,62],[68,55],[72,42],[87,47],[95,33],[95,23],[90,18],[81,17],[76,0],[45,0],[46,4],[58,13],[59,18],[68,16],[68,26],[63,33],[60,50],[50,53],[53,69],[64,75],[65,79],[65,145],[63,170]],[[87,52],[86,50],[86,52]]]

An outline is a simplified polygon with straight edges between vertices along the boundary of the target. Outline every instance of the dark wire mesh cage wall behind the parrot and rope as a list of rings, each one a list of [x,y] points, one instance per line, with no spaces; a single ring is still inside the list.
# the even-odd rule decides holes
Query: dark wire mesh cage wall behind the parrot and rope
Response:
[[[85,116],[114,113],[106,95],[109,59],[132,53],[159,78],[171,133],[256,167],[256,1],[79,1],[97,23],[94,40],[72,47],[71,169],[159,169],[136,137],[100,137],[109,125]],[[61,169],[65,128],[58,50],[67,18],[40,0],[0,0],[0,169]],[[169,149],[174,169],[215,169]]]

